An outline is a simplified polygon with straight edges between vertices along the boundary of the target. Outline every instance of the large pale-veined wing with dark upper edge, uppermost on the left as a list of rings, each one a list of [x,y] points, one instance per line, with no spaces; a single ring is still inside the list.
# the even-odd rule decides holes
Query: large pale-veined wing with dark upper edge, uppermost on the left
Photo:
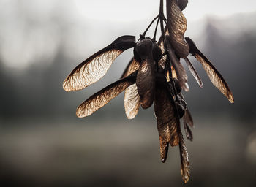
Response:
[[[75,67],[64,80],[65,91],[78,91],[97,82],[110,68],[113,61],[131,47],[135,46],[135,37],[123,36],[116,39],[107,47],[87,58]]]

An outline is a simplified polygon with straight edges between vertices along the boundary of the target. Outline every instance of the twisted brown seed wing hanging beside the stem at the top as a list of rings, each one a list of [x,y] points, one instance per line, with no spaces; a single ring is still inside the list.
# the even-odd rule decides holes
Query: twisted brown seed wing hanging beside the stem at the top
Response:
[[[166,0],[167,28],[170,34],[170,43],[178,56],[186,58],[189,55],[189,45],[184,40],[187,30],[187,20],[176,0]]]

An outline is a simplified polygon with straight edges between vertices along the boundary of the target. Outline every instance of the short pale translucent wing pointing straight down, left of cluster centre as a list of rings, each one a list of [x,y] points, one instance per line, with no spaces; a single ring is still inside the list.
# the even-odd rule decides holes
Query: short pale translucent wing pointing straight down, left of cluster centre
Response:
[[[128,119],[135,118],[140,108],[140,95],[137,85],[130,85],[124,93],[124,109]]]

